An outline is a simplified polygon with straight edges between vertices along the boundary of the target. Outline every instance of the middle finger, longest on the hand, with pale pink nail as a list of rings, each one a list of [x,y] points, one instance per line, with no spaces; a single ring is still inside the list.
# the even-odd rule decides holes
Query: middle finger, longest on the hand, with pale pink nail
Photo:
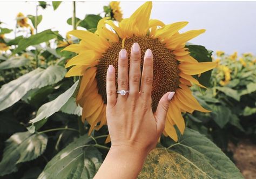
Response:
[[[131,49],[130,73],[129,73],[129,96],[139,94],[140,82],[140,48],[138,43],[134,43]]]

